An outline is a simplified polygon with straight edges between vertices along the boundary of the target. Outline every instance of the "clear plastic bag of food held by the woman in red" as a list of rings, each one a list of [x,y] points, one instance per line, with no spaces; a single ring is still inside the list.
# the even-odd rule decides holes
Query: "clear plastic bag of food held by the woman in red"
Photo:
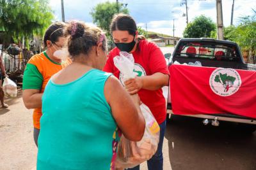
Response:
[[[134,58],[131,53],[120,52],[120,56],[114,58],[114,64],[124,75],[124,81],[135,77]],[[118,169],[137,166],[156,153],[160,127],[145,104],[141,104],[140,109],[146,122],[143,138],[141,141],[135,142],[121,136],[115,162],[115,167]]]

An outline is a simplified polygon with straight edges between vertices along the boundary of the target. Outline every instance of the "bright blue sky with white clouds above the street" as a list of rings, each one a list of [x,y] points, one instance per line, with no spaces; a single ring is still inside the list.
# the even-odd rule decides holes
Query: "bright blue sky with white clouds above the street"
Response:
[[[109,0],[116,2],[116,0]],[[185,0],[119,0],[127,4],[129,14],[137,25],[148,31],[182,37],[186,27]],[[83,20],[89,25],[94,25],[90,12],[98,3],[106,0],[64,0],[65,20]],[[222,0],[223,24],[230,25],[233,0]],[[187,0],[188,21],[191,22],[199,15],[210,17],[216,22],[216,0]],[[50,0],[49,5],[54,11],[55,20],[61,20],[61,0]],[[256,11],[256,0],[234,0],[233,24],[238,25],[239,19],[253,15]]]

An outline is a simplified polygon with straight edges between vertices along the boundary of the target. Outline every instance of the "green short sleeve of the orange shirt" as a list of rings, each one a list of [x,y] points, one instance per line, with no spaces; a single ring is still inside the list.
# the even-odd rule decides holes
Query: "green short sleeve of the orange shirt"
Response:
[[[28,63],[24,71],[22,89],[42,89],[44,78],[34,64]]]

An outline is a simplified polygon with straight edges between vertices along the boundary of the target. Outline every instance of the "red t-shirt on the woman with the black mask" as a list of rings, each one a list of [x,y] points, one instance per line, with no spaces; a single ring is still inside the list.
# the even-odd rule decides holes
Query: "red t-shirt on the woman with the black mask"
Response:
[[[164,55],[155,43],[140,40],[138,47],[136,52],[132,53],[135,62],[134,72],[136,72],[138,76],[149,76],[154,73],[169,74]],[[113,62],[113,58],[119,55],[119,52],[120,50],[116,47],[109,52],[108,60],[103,71],[113,73],[124,84],[122,73],[120,74],[120,71],[115,67]],[[162,89],[141,89],[138,94],[141,101],[146,104],[153,113],[158,124],[163,123],[166,118],[166,102]]]

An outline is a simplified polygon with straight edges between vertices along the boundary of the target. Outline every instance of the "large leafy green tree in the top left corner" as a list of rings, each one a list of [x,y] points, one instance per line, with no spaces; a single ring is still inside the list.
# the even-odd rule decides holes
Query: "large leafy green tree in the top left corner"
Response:
[[[0,27],[6,32],[5,42],[13,39],[18,43],[22,37],[28,42],[33,35],[44,34],[53,18],[47,0],[0,1]]]

